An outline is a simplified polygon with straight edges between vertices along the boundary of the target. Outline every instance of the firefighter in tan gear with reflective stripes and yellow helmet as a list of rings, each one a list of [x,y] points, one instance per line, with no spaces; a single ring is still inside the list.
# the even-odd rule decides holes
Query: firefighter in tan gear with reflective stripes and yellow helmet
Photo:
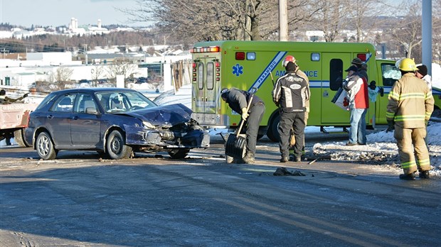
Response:
[[[394,130],[403,174],[400,179],[429,178],[430,158],[424,138],[425,126],[433,111],[432,92],[423,79],[415,76],[418,68],[410,58],[401,60],[402,77],[393,84],[386,111],[388,130]],[[416,159],[415,159],[416,156]]]

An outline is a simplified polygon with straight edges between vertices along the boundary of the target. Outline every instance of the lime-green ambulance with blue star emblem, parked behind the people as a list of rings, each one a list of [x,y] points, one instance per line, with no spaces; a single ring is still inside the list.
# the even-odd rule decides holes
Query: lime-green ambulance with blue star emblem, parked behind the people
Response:
[[[369,102],[366,123],[368,127],[386,123],[388,92],[401,77],[395,61],[376,58],[370,43],[314,43],[277,41],[207,41],[191,49],[193,119],[206,128],[237,128],[240,115],[221,100],[221,89],[236,87],[255,93],[265,101],[265,115],[260,123],[259,136],[267,135],[278,141],[279,113],[272,102],[272,88],[277,79],[285,75],[282,61],[287,55],[296,58],[300,70],[309,78],[311,99],[308,126],[349,126],[349,111],[341,109],[331,100],[341,87],[341,78],[354,57],[368,65],[368,84],[376,82],[384,94],[376,102]],[[441,108],[441,90],[434,88],[435,109]]]

